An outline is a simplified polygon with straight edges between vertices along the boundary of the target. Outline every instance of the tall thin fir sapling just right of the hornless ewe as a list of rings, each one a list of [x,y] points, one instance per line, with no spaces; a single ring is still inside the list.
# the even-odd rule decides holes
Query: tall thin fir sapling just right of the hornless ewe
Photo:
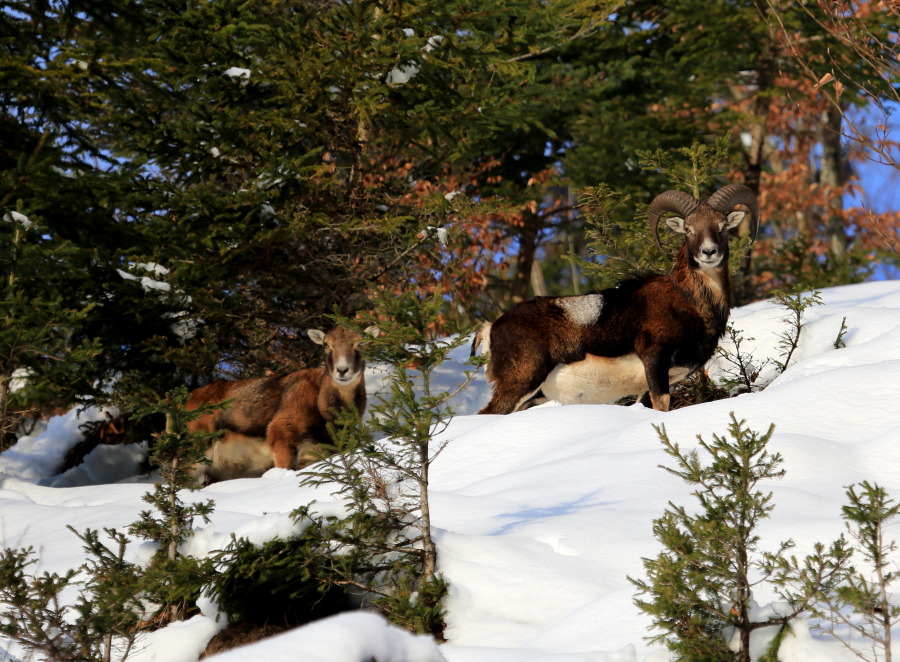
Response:
[[[333,426],[333,452],[306,472],[307,484],[327,484],[348,503],[346,518],[318,518],[334,583],[355,586],[394,623],[440,634],[447,585],[437,570],[432,536],[429,471],[446,441],[433,439],[453,416],[448,401],[474,372],[451,390],[434,388],[435,371],[467,333],[433,338],[446,302],[407,292],[381,293],[361,325],[381,334],[361,347],[367,359],[387,366],[390,383],[369,416],[346,415]],[[341,320],[338,320],[339,322]],[[301,509],[298,517],[308,517]]]

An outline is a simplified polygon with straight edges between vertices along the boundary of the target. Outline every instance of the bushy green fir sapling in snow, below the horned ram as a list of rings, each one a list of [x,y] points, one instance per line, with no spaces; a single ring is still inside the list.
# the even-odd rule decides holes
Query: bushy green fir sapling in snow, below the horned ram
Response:
[[[643,560],[646,579],[637,587],[635,604],[659,631],[650,639],[664,644],[680,660],[750,662],[750,637],[757,630],[782,627],[806,610],[819,590],[844,576],[849,552],[842,541],[802,563],[789,563],[792,541],[777,551],[760,549],[759,523],[774,508],[772,494],[759,489],[764,480],[784,475],[781,456],[764,434],[745,427],[731,414],[728,436],[710,442],[698,436],[699,450],[685,451],[671,441],[664,426],[654,426],[675,467],[663,467],[694,487],[699,508],[669,503],[653,523],[665,551]],[[702,451],[709,458],[701,461]],[[779,588],[788,607],[778,616],[754,620],[753,591],[761,584]]]

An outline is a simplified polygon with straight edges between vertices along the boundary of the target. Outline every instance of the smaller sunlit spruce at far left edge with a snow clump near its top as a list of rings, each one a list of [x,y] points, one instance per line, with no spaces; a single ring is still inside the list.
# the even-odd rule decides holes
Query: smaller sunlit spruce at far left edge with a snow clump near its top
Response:
[[[44,146],[0,173],[0,449],[42,407],[90,395],[89,361],[100,352],[80,333],[92,305],[66,292],[77,248],[45,229],[29,199],[52,163]]]

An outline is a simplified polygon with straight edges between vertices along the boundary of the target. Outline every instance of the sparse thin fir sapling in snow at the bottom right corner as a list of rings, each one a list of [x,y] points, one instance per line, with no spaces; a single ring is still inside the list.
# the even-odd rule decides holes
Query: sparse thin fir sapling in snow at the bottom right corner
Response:
[[[842,508],[847,533],[865,571],[854,568],[847,580],[821,590],[813,605],[819,629],[867,662],[891,662],[891,630],[900,616],[892,593],[898,574],[892,555],[897,543],[886,528],[900,513],[900,504],[884,488],[866,481],[847,488]]]

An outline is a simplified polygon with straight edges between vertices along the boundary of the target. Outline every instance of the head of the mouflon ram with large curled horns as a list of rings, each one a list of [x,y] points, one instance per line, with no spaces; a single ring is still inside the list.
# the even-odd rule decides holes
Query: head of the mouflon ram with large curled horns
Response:
[[[737,205],[750,210],[750,238],[755,239],[759,227],[759,202],[753,191],[741,184],[723,186],[706,202],[683,191],[660,193],[650,203],[647,216],[656,243],[662,250],[659,218],[667,211],[679,214],[667,218],[666,225],[685,235],[689,263],[718,267],[728,260],[728,231],[744,220],[745,212],[734,210]]]

